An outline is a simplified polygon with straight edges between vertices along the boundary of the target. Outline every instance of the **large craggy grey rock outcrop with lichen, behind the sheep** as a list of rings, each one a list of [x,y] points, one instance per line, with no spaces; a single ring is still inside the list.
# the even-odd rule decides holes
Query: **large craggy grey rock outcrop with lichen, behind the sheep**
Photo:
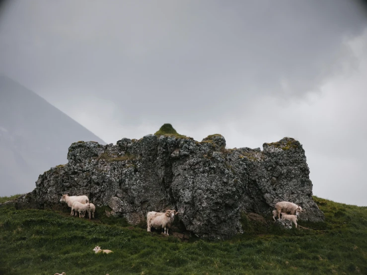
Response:
[[[215,239],[242,232],[240,210],[270,215],[279,201],[306,209],[299,219],[320,221],[302,145],[293,138],[260,148],[225,149],[225,139],[148,135],[117,145],[76,142],[69,163],[40,175],[19,207],[57,208],[63,194],[87,195],[136,224],[148,211],[176,209],[188,231]]]

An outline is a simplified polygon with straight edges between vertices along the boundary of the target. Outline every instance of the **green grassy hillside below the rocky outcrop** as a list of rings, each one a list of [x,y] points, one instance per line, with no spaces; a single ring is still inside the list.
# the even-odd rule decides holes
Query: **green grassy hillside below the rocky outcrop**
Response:
[[[367,274],[367,207],[314,197],[325,222],[289,231],[245,214],[227,241],[182,242],[122,218],[0,207],[0,274]],[[96,215],[96,217],[97,217]],[[113,254],[94,254],[99,245]]]

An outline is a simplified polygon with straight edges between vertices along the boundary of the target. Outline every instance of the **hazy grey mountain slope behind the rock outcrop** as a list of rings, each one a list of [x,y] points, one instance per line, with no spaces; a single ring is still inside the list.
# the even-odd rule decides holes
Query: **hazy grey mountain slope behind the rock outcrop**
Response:
[[[78,140],[105,144],[36,93],[0,75],[0,195],[25,193],[39,174],[66,163]]]

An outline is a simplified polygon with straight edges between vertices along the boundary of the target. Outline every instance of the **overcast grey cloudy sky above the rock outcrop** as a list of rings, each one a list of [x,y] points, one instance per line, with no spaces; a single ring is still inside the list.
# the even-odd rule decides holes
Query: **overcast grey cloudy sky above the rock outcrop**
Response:
[[[367,206],[362,2],[13,0],[0,73],[107,143],[164,123],[229,148],[295,138],[314,195]]]

